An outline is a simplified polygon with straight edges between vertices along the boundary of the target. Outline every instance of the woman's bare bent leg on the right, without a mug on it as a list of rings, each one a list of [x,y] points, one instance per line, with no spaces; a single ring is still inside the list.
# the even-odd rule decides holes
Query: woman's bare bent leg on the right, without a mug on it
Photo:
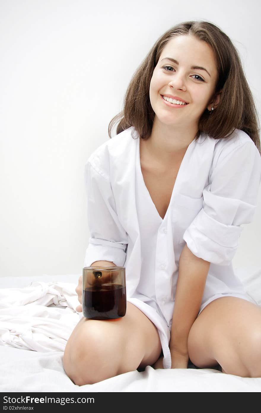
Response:
[[[219,363],[225,371],[228,366],[227,373],[230,374],[233,366],[241,363],[243,370],[243,365],[248,365],[248,358],[250,362],[250,353],[256,360],[260,358],[260,335],[259,306],[238,297],[219,297],[202,310],[190,329],[189,358],[200,368]]]

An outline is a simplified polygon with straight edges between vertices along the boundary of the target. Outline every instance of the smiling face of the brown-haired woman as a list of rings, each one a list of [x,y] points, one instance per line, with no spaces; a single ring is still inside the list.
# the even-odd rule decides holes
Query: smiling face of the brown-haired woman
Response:
[[[191,66],[200,66],[206,71]],[[214,54],[207,43],[192,36],[172,38],[162,50],[150,81],[150,103],[155,116],[169,126],[195,128],[209,104],[209,109],[214,106],[211,102],[217,77]],[[162,95],[180,97],[188,104],[171,106]]]

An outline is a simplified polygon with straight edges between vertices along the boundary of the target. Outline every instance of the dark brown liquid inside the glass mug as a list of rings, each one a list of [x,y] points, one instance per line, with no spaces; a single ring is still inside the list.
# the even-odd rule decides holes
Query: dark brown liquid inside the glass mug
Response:
[[[104,284],[100,289],[88,287],[82,294],[82,312],[86,318],[108,320],[125,316],[126,287]]]

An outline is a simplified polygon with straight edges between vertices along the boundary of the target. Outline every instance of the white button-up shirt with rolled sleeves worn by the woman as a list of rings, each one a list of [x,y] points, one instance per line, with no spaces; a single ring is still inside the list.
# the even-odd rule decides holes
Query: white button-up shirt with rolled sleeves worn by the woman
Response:
[[[223,295],[247,299],[233,271],[242,224],[253,221],[261,157],[236,129],[230,138],[201,134],[181,162],[164,219],[143,180],[139,135],[130,127],[99,146],[85,165],[90,231],[84,266],[113,261],[125,266],[127,301],[158,328],[164,368],[184,245],[210,262],[200,311]]]

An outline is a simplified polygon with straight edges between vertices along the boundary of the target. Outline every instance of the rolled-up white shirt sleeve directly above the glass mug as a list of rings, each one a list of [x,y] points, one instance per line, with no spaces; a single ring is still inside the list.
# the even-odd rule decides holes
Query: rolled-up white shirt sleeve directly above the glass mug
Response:
[[[85,165],[87,217],[90,232],[84,266],[94,261],[112,261],[123,266],[127,234],[119,221],[110,180],[89,161]]]

